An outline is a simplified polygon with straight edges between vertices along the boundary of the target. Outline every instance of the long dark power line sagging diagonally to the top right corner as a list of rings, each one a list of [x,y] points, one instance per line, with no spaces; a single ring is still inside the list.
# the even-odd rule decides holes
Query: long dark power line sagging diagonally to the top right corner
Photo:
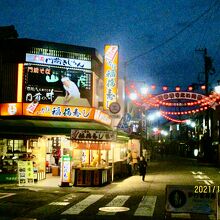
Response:
[[[205,10],[201,15],[199,15],[196,19],[192,20],[188,25],[186,25],[184,28],[182,28],[181,30],[179,30],[176,34],[174,34],[173,36],[169,37],[167,40],[165,40],[164,42],[158,44],[157,46],[151,48],[150,50],[143,52],[133,58],[131,58],[130,60],[126,61],[125,63],[131,63],[132,61],[138,59],[139,57],[142,57],[150,52],[153,52],[154,50],[162,47],[163,45],[167,44],[168,42],[172,41],[173,39],[175,39],[179,34],[181,34],[182,32],[184,32],[186,29],[188,29],[189,27],[191,27],[194,23],[196,23],[198,20],[200,20],[200,18],[202,18],[204,15],[206,15],[210,10],[212,10],[212,8],[215,6],[215,4],[218,2],[218,0],[216,0],[214,2],[214,4],[212,6],[210,6],[207,10]]]

